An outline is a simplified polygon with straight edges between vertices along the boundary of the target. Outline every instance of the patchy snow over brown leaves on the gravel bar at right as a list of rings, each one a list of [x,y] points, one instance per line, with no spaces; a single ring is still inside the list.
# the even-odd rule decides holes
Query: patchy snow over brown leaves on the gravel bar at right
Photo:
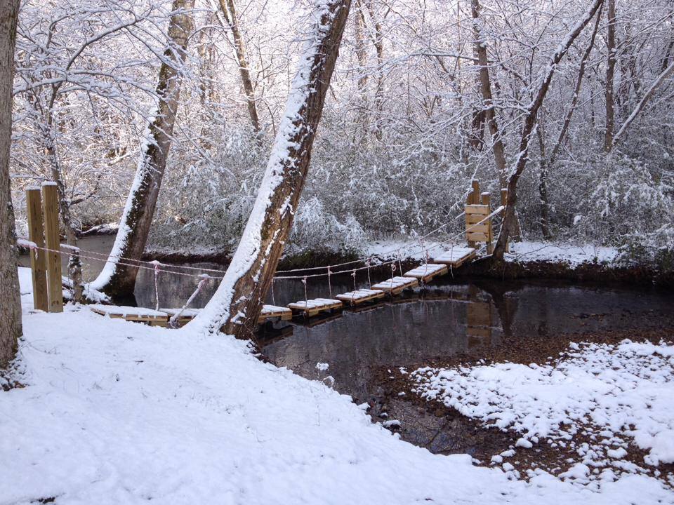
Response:
[[[560,477],[583,483],[674,462],[674,346],[663,342],[571,344],[546,365],[419,368],[410,377],[423,398],[520,433],[492,464],[539,443],[575,452]],[[640,464],[623,459],[630,443],[647,451]],[[517,472],[509,462],[503,469]]]

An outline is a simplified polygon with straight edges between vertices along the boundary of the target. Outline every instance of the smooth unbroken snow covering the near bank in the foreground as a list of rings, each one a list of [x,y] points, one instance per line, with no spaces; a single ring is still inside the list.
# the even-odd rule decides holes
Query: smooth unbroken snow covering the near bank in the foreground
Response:
[[[524,482],[430,454],[231,337],[23,302],[25,387],[0,391],[2,505],[674,503],[649,476]]]

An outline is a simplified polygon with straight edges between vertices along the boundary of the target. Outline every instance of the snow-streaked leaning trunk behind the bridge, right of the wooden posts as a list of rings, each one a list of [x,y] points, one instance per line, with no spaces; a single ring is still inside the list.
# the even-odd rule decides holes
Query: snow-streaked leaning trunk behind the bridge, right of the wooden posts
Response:
[[[148,126],[149,131],[143,140],[136,177],[131,184],[110,257],[98,278],[91,283],[91,287],[102,290],[112,297],[133,296],[133,287],[138,274],[136,262],[140,260],[145,250],[171,147],[183,79],[181,67],[187,55],[187,41],[194,29],[193,8],[194,0],[173,0],[173,14],[169,22],[169,47],[164,52],[164,62],[159,69],[159,83],[157,83],[159,96],[157,113]]]

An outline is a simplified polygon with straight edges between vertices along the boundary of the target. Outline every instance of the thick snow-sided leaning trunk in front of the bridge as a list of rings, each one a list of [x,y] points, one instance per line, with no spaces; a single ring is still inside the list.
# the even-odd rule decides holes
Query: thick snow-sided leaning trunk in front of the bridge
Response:
[[[306,180],[350,4],[350,0],[316,1],[315,25],[305,37],[286,111],[246,229],[216,294],[186,328],[202,332],[223,328],[237,337],[247,337],[255,328]]]

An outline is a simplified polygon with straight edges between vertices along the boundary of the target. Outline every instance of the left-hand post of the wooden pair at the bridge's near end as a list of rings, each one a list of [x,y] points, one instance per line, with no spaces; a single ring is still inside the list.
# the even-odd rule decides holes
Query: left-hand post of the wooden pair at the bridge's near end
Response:
[[[44,227],[42,225],[42,200],[39,188],[26,189],[26,210],[28,216],[28,240],[39,248],[44,248]],[[47,297],[46,251],[30,250],[30,271],[33,281],[33,307],[49,311]]]

